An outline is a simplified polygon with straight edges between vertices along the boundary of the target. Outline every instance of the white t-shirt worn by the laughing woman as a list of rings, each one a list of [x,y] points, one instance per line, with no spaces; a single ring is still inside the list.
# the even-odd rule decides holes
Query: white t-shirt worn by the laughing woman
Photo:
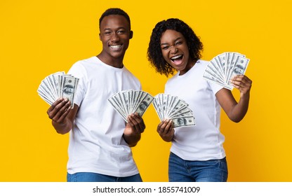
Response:
[[[220,133],[220,104],[215,97],[222,86],[203,78],[208,62],[196,64],[179,76],[179,72],[165,85],[165,93],[183,99],[194,113],[196,126],[175,128],[171,152],[184,160],[212,160],[225,158]]]

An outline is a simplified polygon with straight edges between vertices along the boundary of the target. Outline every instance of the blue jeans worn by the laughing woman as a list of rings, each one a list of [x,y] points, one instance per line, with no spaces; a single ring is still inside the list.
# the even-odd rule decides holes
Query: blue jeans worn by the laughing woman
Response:
[[[168,160],[170,182],[226,182],[226,158],[221,160],[190,161],[171,153]]]

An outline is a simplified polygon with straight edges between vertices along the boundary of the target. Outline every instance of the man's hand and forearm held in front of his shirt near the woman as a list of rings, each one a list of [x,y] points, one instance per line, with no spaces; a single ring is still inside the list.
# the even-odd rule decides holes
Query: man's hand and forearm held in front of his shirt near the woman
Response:
[[[132,113],[128,116],[128,123],[124,130],[124,139],[128,146],[133,147],[138,144],[145,128],[145,123],[138,113]]]

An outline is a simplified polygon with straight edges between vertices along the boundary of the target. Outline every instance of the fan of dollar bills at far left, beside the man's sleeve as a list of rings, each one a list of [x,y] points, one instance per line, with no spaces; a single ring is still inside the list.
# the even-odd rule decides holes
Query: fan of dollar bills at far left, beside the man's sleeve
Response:
[[[79,78],[65,74],[64,71],[58,71],[46,76],[41,81],[37,92],[41,99],[52,105],[60,97],[69,99],[71,106],[74,106],[74,92],[77,88]]]

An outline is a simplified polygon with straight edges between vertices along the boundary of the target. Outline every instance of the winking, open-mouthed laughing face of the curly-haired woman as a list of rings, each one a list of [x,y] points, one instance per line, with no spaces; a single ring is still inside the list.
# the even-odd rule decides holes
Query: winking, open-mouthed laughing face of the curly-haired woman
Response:
[[[192,68],[189,48],[183,34],[171,29],[166,30],[160,38],[160,46],[166,62],[180,71],[180,75]]]

